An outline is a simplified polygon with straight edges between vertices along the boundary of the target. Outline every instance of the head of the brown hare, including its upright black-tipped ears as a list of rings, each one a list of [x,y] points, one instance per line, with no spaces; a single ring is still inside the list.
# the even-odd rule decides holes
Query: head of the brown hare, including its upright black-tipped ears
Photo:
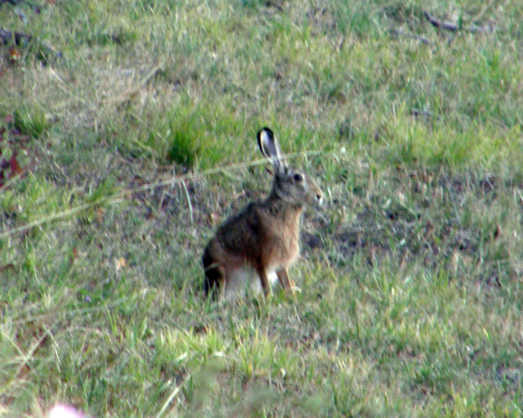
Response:
[[[308,175],[285,164],[273,131],[263,127],[258,131],[257,138],[261,153],[273,164],[273,196],[297,207],[307,204],[321,205],[324,199],[323,192]]]

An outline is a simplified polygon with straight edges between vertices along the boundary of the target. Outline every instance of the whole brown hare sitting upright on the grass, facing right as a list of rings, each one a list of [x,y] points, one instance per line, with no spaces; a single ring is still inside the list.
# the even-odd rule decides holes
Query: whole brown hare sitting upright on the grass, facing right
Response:
[[[287,291],[294,294],[296,289],[287,269],[299,255],[301,213],[308,203],[321,205],[323,192],[314,180],[285,164],[273,131],[264,127],[257,139],[273,165],[271,194],[229,217],[205,247],[206,296],[232,300],[248,288],[268,296],[277,278]]]

